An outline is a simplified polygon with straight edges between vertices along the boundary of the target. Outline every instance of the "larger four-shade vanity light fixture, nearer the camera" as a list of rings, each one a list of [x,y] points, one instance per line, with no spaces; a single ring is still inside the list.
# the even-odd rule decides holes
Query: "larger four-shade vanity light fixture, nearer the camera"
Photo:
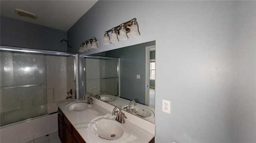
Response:
[[[111,32],[111,37],[109,38],[108,33]],[[140,35],[140,32],[138,30],[138,24],[136,22],[136,18],[133,18],[132,20],[125,22],[121,25],[118,25],[108,31],[104,34],[104,45],[109,45],[111,43],[118,42],[120,40],[126,40],[128,39],[127,33],[129,34],[129,37],[137,37]],[[119,35],[119,37],[117,36]],[[110,40],[109,40],[110,39]]]

